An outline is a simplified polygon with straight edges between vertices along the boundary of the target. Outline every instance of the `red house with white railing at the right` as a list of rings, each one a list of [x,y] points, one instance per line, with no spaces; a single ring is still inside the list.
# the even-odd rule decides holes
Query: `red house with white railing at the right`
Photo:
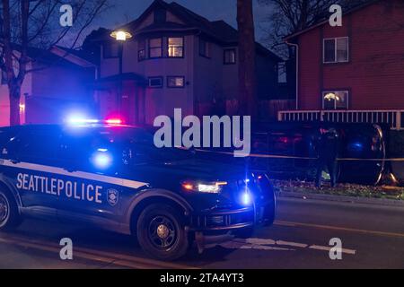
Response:
[[[298,49],[297,111],[279,119],[389,123],[404,110],[404,1],[368,1],[289,36]],[[308,111],[312,112],[308,112]]]

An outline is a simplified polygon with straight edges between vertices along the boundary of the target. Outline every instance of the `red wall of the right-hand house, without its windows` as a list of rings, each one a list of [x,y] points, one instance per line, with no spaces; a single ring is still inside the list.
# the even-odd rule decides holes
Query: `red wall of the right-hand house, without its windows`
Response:
[[[349,37],[349,63],[322,64],[322,39]],[[299,39],[299,109],[321,109],[321,91],[349,90],[349,109],[404,109],[404,1],[382,0]]]

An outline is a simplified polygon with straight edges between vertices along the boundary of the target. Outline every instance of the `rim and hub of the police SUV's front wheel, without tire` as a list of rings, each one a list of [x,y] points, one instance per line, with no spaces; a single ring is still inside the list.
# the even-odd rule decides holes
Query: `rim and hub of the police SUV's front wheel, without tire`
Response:
[[[174,223],[165,216],[156,216],[149,224],[149,238],[155,248],[171,248],[177,238]]]

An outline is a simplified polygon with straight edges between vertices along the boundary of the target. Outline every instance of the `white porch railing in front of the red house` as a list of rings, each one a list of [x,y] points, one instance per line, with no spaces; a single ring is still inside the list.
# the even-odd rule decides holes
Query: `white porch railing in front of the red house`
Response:
[[[404,129],[404,110],[284,110],[278,121],[328,121],[336,123],[385,124],[394,130]]]

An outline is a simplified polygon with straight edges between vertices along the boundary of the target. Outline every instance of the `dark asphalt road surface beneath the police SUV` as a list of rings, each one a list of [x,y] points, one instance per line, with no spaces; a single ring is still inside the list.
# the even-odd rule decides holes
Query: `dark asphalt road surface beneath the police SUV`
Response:
[[[70,238],[74,259],[59,257]],[[329,240],[342,259],[329,258]],[[280,199],[277,222],[252,239],[191,250],[174,263],[151,260],[136,240],[103,230],[26,221],[0,234],[1,268],[404,268],[404,208]]]

